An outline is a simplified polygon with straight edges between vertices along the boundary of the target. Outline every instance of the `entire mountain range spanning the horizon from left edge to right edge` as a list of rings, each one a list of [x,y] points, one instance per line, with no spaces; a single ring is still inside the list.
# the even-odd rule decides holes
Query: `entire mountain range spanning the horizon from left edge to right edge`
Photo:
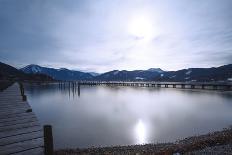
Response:
[[[55,79],[55,80],[99,80],[99,81],[232,81],[232,64],[211,68],[189,68],[164,71],[160,68],[147,70],[113,70],[102,74],[82,72],[66,68],[48,68],[28,65],[16,69],[0,63],[0,79]]]

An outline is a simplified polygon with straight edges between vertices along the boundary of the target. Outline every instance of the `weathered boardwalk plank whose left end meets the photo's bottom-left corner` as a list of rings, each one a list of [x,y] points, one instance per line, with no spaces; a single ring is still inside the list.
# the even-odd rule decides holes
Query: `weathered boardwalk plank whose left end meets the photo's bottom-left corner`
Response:
[[[0,146],[0,154],[7,155],[13,153],[19,153],[30,149],[43,147],[43,138],[37,138],[33,140],[18,142],[10,145]]]

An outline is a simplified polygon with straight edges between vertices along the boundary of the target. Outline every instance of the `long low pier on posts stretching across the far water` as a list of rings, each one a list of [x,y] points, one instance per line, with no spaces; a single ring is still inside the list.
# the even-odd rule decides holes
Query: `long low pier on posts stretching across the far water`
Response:
[[[182,89],[232,90],[231,82],[125,82],[125,81],[72,81],[76,85],[134,86]]]

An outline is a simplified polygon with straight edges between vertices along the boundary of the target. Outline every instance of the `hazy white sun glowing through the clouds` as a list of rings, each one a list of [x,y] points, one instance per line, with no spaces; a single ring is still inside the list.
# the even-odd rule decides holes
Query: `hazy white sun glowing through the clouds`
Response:
[[[153,35],[151,21],[145,16],[137,16],[129,21],[129,33],[135,37],[149,39]]]

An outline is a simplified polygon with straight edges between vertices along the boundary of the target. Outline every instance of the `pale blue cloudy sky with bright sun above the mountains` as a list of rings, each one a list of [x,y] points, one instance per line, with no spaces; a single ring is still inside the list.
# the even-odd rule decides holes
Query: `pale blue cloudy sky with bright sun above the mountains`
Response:
[[[0,61],[106,72],[232,63],[232,0],[0,0]]]

